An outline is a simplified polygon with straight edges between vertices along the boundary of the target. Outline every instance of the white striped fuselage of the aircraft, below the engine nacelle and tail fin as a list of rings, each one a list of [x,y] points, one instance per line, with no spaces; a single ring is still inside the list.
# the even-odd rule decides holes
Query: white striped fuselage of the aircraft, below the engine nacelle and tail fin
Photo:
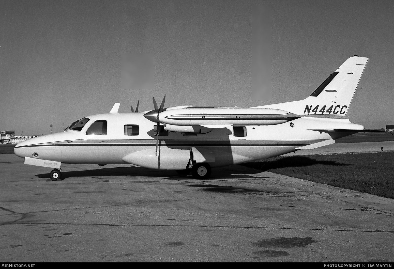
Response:
[[[106,113],[84,119],[88,121],[82,129],[29,139],[15,147],[15,154],[62,163],[132,163],[154,169],[185,169],[189,152],[193,152],[197,162],[219,167],[279,156],[333,138],[316,129],[363,128],[347,119],[302,117],[276,125],[214,128],[207,134],[166,132],[163,128],[156,136],[156,124],[143,113]],[[105,122],[105,134],[92,132],[97,122],[100,128]]]

